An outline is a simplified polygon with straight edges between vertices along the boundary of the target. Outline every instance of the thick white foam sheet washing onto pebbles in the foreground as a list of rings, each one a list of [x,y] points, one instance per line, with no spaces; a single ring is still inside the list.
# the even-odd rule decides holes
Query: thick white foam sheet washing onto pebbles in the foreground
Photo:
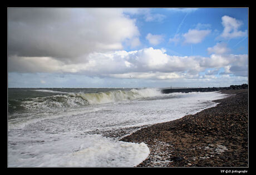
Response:
[[[35,142],[33,145],[20,146],[17,151],[9,151],[8,166],[134,167],[150,153],[145,143],[115,141],[100,135],[74,138],[73,133],[66,134],[68,139]]]

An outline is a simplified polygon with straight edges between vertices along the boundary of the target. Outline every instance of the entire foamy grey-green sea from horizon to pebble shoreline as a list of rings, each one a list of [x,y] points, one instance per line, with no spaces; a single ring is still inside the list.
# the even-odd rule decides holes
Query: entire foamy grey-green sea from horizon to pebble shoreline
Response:
[[[220,92],[8,88],[8,167],[134,167],[150,154],[122,137],[217,105]]]

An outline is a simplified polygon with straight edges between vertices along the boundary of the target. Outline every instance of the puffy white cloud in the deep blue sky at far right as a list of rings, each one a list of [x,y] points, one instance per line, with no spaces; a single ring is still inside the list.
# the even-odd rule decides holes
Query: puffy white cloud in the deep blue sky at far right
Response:
[[[238,37],[245,37],[247,35],[247,30],[245,30],[244,32],[238,30],[243,24],[240,20],[229,16],[223,16],[221,20],[221,24],[223,25],[224,30],[223,33],[221,33],[220,37],[223,37],[225,39],[232,39]]]

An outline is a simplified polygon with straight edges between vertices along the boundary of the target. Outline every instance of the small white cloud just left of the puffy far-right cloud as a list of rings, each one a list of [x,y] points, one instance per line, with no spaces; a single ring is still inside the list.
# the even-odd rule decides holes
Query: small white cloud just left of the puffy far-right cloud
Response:
[[[184,43],[198,44],[211,32],[211,30],[189,29],[188,33],[183,34]]]

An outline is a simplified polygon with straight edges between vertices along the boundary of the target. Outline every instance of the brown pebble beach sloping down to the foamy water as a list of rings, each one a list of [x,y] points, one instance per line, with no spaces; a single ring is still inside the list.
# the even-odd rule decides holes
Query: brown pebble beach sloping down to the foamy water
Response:
[[[248,167],[248,89],[221,92],[215,107],[122,138],[150,148],[137,167]]]

